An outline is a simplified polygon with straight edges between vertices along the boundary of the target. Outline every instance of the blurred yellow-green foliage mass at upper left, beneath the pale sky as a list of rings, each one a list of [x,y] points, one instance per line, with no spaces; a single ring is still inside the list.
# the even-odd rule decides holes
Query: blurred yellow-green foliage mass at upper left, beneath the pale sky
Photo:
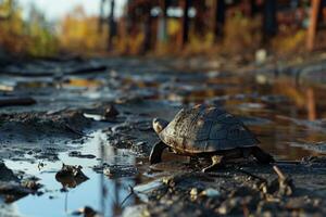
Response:
[[[0,0],[0,50],[49,56],[58,52],[92,53],[105,50],[106,30],[98,29],[98,17],[77,7],[61,21],[49,23],[36,7],[23,18],[15,0]]]

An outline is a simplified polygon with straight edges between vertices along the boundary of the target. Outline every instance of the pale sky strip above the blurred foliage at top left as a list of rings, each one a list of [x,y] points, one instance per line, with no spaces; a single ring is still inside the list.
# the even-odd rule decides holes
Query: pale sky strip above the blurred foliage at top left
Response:
[[[23,9],[28,9],[30,3],[34,3],[38,9],[40,9],[46,17],[49,20],[60,20],[70,11],[72,11],[76,5],[84,5],[84,9],[88,15],[99,14],[100,0],[17,0]],[[116,13],[115,16],[120,16],[123,11],[123,5],[126,0],[115,0],[116,2]],[[109,8],[109,3],[108,3]],[[28,13],[25,10],[26,14]]]

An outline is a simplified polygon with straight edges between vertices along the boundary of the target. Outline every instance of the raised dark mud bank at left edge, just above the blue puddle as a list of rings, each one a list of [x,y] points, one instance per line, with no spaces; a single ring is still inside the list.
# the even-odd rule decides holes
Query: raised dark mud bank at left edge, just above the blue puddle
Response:
[[[58,161],[58,152],[67,150],[66,142],[85,137],[91,119],[82,112],[15,113],[0,115],[0,157]]]

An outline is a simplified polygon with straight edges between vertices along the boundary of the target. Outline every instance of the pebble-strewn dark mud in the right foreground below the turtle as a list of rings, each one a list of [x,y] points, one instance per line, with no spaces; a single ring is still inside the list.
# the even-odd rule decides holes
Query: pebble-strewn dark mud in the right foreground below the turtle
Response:
[[[188,212],[191,216],[326,214],[326,204],[322,205],[325,202],[313,190],[308,193],[301,183],[294,187],[296,178],[302,178],[301,174],[309,168],[300,164],[292,164],[292,170],[289,167],[274,166],[276,178],[271,167],[259,165],[244,165],[241,170],[228,167],[210,174],[178,173],[136,186],[134,192],[146,202],[141,213],[150,216],[186,216],[190,215]],[[325,176],[323,181],[325,184]]]

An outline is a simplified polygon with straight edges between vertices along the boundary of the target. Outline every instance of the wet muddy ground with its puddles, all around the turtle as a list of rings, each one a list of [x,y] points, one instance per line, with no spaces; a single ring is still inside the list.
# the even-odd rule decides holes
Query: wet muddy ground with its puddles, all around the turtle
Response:
[[[202,59],[1,65],[0,216],[326,215],[324,95],[310,119],[296,92],[305,86],[261,82],[263,69],[247,68]],[[197,103],[237,115],[277,167],[249,158],[202,174],[205,159],[168,152],[150,166],[152,118]]]

